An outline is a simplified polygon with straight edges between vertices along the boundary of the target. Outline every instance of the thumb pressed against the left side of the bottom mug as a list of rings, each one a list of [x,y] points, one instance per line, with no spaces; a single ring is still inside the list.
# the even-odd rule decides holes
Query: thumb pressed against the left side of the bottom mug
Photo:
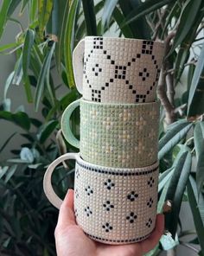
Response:
[[[73,189],[68,189],[67,195],[61,204],[57,226],[67,227],[75,224],[75,216],[73,213]]]

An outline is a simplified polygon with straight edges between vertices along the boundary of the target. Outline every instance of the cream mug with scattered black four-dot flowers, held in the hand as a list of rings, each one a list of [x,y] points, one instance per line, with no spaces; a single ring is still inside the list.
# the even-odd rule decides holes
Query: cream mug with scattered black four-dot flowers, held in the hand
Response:
[[[92,240],[129,244],[146,239],[156,223],[158,163],[120,169],[87,163],[67,153],[51,163],[43,186],[48,200],[60,208],[51,176],[64,160],[75,159],[74,213],[78,225]]]

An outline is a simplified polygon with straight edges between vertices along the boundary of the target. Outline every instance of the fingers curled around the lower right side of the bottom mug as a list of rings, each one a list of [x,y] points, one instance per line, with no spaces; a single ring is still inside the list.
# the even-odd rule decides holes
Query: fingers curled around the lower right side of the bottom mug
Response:
[[[156,227],[153,233],[150,234],[150,236],[146,240],[143,240],[142,242],[140,242],[143,249],[143,253],[148,253],[157,245],[161,236],[163,235],[163,231],[164,231],[164,215],[157,214]]]

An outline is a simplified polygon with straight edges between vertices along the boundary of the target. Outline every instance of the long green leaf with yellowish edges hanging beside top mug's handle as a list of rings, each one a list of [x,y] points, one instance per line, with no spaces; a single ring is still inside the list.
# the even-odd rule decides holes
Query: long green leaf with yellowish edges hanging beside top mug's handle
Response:
[[[68,2],[67,2],[68,3]],[[66,21],[66,29],[65,29],[65,37],[64,37],[64,57],[65,57],[65,67],[67,72],[67,80],[70,88],[75,86],[74,77],[73,77],[73,39],[74,39],[74,24],[76,20],[76,13],[80,6],[80,0],[73,0],[71,3],[67,21]]]

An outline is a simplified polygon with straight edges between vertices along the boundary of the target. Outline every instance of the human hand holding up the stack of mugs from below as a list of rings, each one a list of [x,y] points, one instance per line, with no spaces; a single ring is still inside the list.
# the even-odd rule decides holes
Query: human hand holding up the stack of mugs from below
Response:
[[[61,204],[54,232],[56,251],[58,256],[141,256],[156,246],[163,234],[163,229],[164,216],[157,214],[154,231],[141,242],[112,246],[91,240],[76,224],[73,213],[73,190],[69,189]]]

